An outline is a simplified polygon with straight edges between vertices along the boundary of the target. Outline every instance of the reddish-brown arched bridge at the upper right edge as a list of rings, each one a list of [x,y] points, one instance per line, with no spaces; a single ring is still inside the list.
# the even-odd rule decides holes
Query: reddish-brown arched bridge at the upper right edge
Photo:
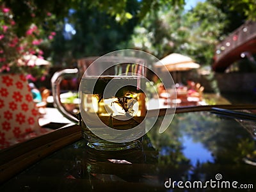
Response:
[[[212,69],[224,72],[234,61],[256,53],[256,22],[248,21],[216,46]]]

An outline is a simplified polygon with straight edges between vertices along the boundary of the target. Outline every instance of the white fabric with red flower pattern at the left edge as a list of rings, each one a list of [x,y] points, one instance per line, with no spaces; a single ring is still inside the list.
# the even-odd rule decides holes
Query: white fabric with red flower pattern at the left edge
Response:
[[[0,75],[0,145],[42,131],[39,114],[24,75]]]

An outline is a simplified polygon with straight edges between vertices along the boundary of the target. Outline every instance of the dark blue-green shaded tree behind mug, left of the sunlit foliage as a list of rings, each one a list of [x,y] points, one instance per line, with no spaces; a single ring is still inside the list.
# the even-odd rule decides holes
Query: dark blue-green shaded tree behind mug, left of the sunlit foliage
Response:
[[[127,10],[132,15],[127,17],[131,18],[121,24],[116,22],[116,17],[81,3],[79,10],[74,10],[66,22],[59,24],[56,40],[52,44],[54,60],[68,62],[74,58],[100,56],[115,51],[116,45],[126,41],[132,34],[138,23],[138,18],[134,17],[138,9],[138,1],[129,1]],[[65,24],[72,24],[76,34],[63,36],[63,33],[67,33],[64,31]]]

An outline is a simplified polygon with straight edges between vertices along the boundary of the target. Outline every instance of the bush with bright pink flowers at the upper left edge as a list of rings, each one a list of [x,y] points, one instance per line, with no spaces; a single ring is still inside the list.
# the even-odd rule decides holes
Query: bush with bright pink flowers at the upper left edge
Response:
[[[44,54],[39,48],[44,41],[40,38],[42,30],[31,24],[24,35],[18,36],[12,10],[3,4],[0,5],[0,24],[0,73],[24,73],[34,79],[44,76],[46,68],[36,65],[37,59],[43,59]],[[55,32],[51,32],[49,40],[54,35]]]

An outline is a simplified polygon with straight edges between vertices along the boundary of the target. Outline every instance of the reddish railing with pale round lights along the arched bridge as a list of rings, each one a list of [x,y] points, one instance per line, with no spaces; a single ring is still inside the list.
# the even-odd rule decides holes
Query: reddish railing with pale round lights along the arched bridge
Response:
[[[228,52],[236,49],[236,47],[239,47],[245,42],[250,41],[255,36],[256,22],[248,21],[244,23],[216,46],[215,62],[217,63],[218,60],[223,58],[226,54],[228,54]]]

